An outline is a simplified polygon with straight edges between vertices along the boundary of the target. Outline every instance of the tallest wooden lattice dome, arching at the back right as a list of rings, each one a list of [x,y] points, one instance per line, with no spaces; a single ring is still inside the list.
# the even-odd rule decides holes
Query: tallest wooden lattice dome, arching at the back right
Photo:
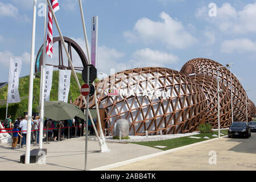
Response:
[[[216,61],[205,59],[205,58],[197,58],[189,60],[187,63],[183,65],[180,72],[185,75],[189,75],[191,73],[200,73],[203,75],[209,75],[213,77],[217,77],[217,67],[222,66],[220,63]],[[219,69],[219,76],[221,78],[222,84],[224,84],[231,93],[230,90],[230,71],[227,68]],[[245,106],[245,90],[243,89],[240,81],[236,76],[232,74],[232,90],[233,90],[233,115],[234,121],[246,121],[246,106]],[[216,102],[217,104],[217,102]]]

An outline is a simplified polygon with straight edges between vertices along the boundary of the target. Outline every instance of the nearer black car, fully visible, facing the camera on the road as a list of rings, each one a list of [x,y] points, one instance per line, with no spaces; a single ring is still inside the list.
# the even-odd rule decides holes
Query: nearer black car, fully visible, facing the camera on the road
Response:
[[[232,137],[251,137],[251,131],[246,122],[233,122],[229,127],[228,138]]]

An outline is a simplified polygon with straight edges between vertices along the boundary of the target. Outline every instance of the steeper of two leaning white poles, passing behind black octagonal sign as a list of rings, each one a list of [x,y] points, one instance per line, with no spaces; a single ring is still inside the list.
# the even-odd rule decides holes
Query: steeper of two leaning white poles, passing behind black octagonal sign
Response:
[[[79,6],[80,6],[81,19],[82,19],[82,27],[84,29],[84,37],[85,37],[87,56],[88,56],[89,64],[91,64],[89,46],[88,46],[88,40],[87,40],[86,28],[85,28],[85,21],[84,21],[84,12],[82,11],[82,2],[81,2],[81,0],[79,0]],[[94,82],[93,82],[93,86],[95,87]],[[101,118],[100,118],[100,112],[98,110],[98,98],[97,98],[96,92],[94,92],[94,101],[95,101],[95,106],[96,106],[96,111],[97,111],[98,126],[100,128],[100,137],[102,138],[102,142],[104,144],[105,150],[108,151],[109,149],[108,149],[108,146],[106,145],[105,137],[104,137],[102,127],[101,127]],[[94,130],[96,130],[96,128],[94,128]]]

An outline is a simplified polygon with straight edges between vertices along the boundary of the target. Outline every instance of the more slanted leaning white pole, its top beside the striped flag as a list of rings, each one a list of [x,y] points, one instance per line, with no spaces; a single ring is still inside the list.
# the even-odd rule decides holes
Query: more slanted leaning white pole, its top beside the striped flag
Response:
[[[79,79],[77,78],[77,75],[76,75],[76,72],[75,72],[75,68],[73,67],[73,63],[72,63],[71,58],[70,58],[69,53],[68,53],[67,46],[65,45],[65,42],[64,42],[64,39],[63,39],[63,35],[61,34],[60,27],[59,27],[59,24],[58,24],[58,22],[57,22],[55,13],[53,12],[51,2],[50,2],[49,0],[47,0],[47,3],[48,3],[48,6],[49,6],[49,10],[50,10],[51,13],[52,13],[52,17],[53,17],[53,19],[54,19],[54,21],[55,21],[57,30],[58,30],[58,32],[59,32],[60,39],[61,39],[61,43],[63,44],[65,53],[66,53],[66,55],[67,55],[67,57],[68,57],[69,64],[71,65],[71,69],[72,69],[73,75],[75,76],[75,80],[76,80],[77,86],[79,86],[79,90],[81,90],[81,85],[80,85]],[[86,104],[86,100],[85,100],[85,97],[84,97],[84,96],[82,96],[82,100],[84,100],[84,103]],[[93,119],[92,119],[92,114],[90,114],[90,110],[88,111],[88,113],[89,113],[89,117],[90,117],[91,121],[93,121]],[[95,130],[96,127],[95,127],[95,125],[94,125],[93,122],[92,122],[92,125],[93,125],[94,130]],[[101,138],[98,136],[97,130],[95,131],[95,133],[96,133],[96,137],[98,138],[99,145],[100,145],[100,147],[101,147],[101,152],[106,152],[105,148],[103,147],[102,140],[101,140]]]

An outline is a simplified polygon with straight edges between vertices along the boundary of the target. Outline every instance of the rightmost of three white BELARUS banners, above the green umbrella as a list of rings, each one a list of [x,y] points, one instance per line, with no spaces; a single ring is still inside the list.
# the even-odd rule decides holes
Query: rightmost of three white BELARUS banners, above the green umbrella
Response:
[[[60,69],[58,100],[68,102],[71,70]]]

